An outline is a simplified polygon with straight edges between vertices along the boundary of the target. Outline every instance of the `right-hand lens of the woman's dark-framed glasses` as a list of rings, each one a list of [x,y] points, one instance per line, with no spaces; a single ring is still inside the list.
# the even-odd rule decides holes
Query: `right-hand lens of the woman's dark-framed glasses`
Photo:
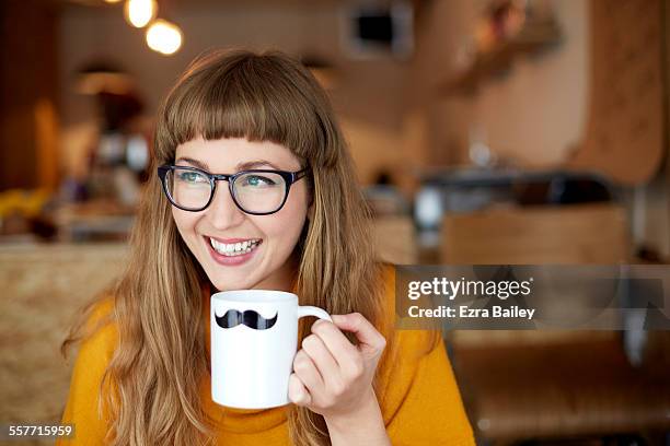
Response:
[[[284,202],[286,181],[281,175],[270,172],[250,172],[235,179],[233,193],[247,212],[275,212]]]

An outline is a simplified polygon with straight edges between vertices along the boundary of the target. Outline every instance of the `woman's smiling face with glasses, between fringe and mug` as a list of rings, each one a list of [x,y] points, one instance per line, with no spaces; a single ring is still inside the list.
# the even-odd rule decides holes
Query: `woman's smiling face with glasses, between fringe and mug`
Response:
[[[203,169],[173,167],[182,174],[163,176],[163,185],[176,204],[172,215],[177,230],[215,287],[290,290],[293,271],[281,267],[308,213],[305,181],[296,175],[304,171],[297,156],[269,141],[198,138],[177,145],[175,157],[177,166]],[[228,190],[217,189],[218,179],[228,181]]]

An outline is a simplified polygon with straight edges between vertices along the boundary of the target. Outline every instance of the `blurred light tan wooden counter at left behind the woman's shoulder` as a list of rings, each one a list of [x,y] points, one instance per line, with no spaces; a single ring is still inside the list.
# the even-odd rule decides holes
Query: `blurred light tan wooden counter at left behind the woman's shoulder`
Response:
[[[76,357],[72,351],[66,363],[60,342],[74,313],[120,272],[126,253],[126,244],[0,245],[0,420],[60,421]]]

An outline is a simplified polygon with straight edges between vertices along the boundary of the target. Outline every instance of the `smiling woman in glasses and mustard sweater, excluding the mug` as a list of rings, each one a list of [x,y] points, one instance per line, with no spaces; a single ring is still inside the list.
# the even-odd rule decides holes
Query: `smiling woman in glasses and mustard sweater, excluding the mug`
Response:
[[[393,331],[394,272],[374,259],[307,69],[280,52],[197,60],[162,106],[154,151],[127,270],[62,345],[83,340],[62,416],[76,442],[473,443],[438,333]],[[333,315],[301,326],[292,404],[211,401],[209,296],[240,289],[292,291]]]

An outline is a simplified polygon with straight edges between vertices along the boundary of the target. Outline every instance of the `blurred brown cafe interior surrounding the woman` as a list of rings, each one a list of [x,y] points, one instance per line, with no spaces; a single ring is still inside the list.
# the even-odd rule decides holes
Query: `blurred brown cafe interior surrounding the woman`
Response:
[[[153,116],[203,51],[312,70],[388,261],[667,266],[669,24],[667,0],[2,0],[0,422],[60,420],[59,342],[120,271]],[[482,445],[670,445],[668,334],[446,341]]]

